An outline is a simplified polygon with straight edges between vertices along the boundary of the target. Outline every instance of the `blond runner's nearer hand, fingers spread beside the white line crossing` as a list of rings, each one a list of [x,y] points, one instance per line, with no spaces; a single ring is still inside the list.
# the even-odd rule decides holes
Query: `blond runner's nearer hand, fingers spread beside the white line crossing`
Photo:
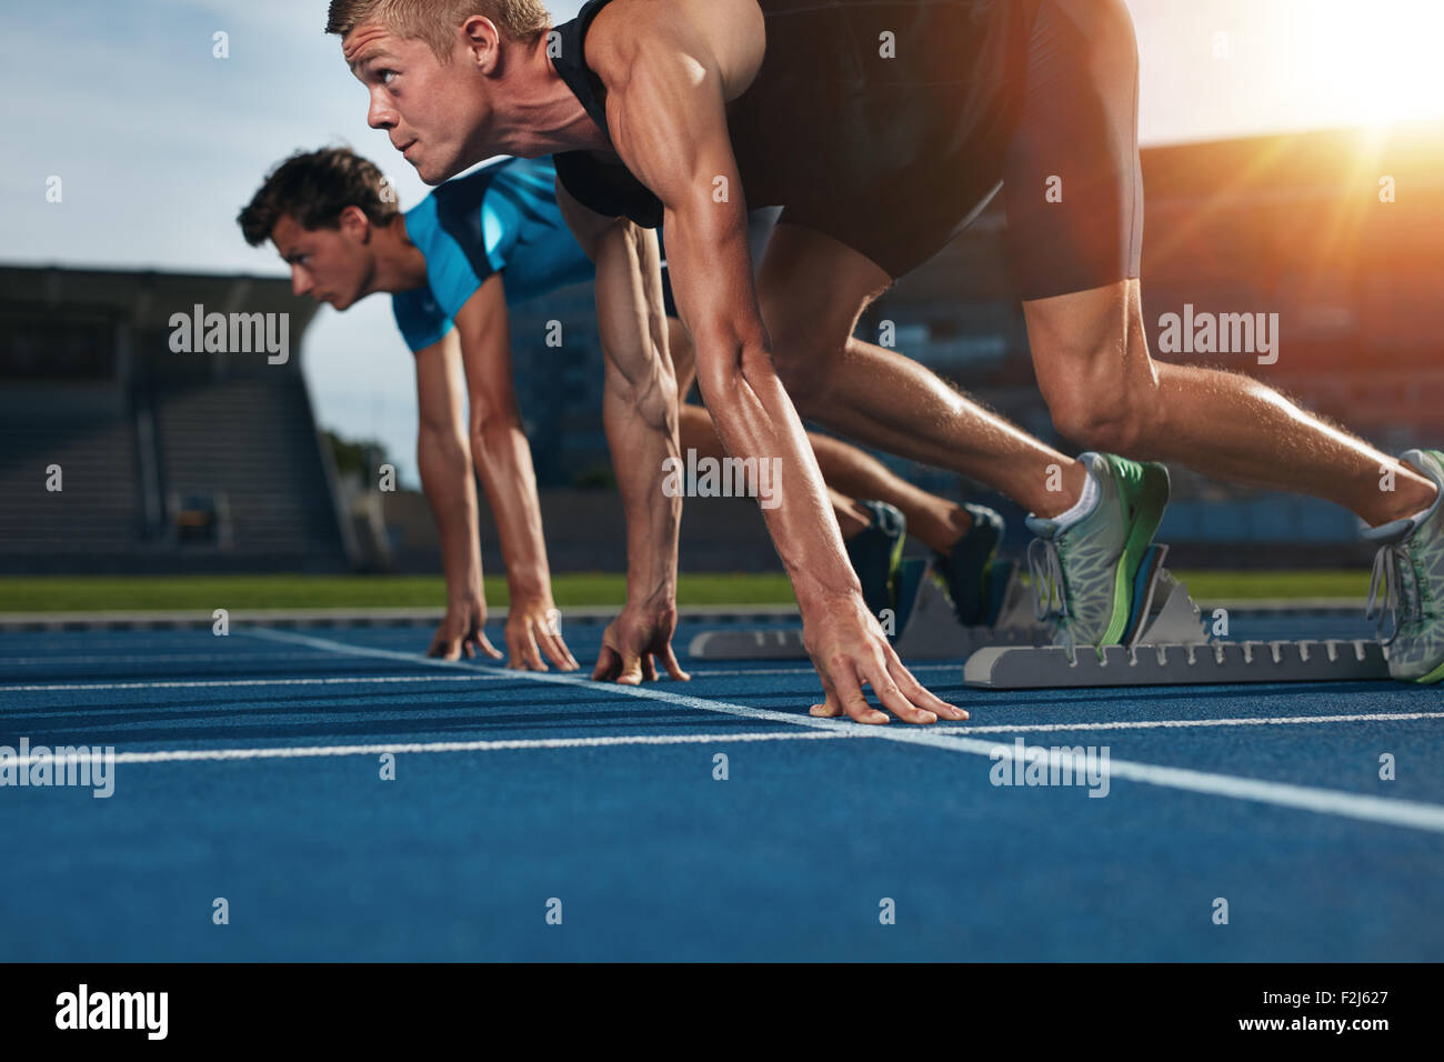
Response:
[[[882,626],[861,594],[842,603],[829,603],[803,613],[803,644],[826,694],[823,704],[812,707],[813,715],[835,718],[851,715],[858,722],[887,722],[887,712],[868,704],[862,683],[882,701],[882,707],[904,722],[966,720],[962,708],[933,696],[902,660],[892,652]]]

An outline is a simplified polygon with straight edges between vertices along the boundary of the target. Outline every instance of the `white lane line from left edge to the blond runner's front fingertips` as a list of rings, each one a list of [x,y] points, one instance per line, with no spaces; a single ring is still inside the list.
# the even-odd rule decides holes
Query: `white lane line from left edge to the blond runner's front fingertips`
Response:
[[[726,744],[732,741],[807,741],[826,738],[851,738],[862,734],[846,734],[826,730],[784,730],[773,733],[736,734],[618,734],[608,737],[537,737],[497,738],[491,741],[423,741],[391,743],[374,746],[300,746],[284,748],[169,748],[153,753],[116,753],[114,763],[189,763],[196,760],[303,760],[321,756],[380,756],[381,753],[498,753],[527,748],[608,748],[614,746],[697,746]],[[92,746],[94,748],[94,746]],[[33,763],[65,760],[66,763],[101,761],[104,753],[88,756],[16,756],[10,763],[29,769]]]

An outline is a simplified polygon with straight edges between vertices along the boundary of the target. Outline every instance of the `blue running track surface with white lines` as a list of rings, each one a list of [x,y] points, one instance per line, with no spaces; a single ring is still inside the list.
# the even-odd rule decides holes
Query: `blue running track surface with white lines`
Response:
[[[0,959],[1444,959],[1438,688],[985,694],[930,662],[969,722],[861,727],[807,715],[801,662],[624,691],[429,634],[0,637],[0,746],[118,756],[108,799],[0,787]],[[993,785],[1018,737],[1106,747],[1106,796]]]

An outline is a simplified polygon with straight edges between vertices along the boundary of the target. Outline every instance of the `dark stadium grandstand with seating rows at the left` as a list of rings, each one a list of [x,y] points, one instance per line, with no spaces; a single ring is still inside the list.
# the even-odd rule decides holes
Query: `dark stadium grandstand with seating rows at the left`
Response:
[[[279,279],[0,266],[0,572],[351,568],[299,358],[178,351],[202,305],[296,350],[315,315]]]

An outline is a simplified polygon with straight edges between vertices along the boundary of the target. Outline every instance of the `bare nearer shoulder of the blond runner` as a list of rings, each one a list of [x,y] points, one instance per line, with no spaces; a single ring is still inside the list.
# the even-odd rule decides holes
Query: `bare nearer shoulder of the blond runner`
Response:
[[[640,65],[693,61],[722,78],[726,100],[748,90],[767,52],[757,0],[612,0],[586,35],[586,61],[608,87]]]

